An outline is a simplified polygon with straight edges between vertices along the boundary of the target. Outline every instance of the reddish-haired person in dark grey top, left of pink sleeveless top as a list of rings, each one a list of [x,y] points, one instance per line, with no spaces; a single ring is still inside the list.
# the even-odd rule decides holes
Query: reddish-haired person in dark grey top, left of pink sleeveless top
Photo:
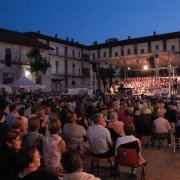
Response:
[[[39,128],[40,121],[37,117],[28,120],[29,131],[23,137],[23,149],[35,147],[42,156],[45,137],[43,134],[38,132]]]

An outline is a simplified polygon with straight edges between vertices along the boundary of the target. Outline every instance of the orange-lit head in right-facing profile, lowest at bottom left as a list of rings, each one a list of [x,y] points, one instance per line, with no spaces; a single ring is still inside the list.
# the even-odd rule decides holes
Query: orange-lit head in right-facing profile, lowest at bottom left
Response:
[[[36,171],[41,165],[40,159],[41,156],[36,148],[24,149],[22,152],[21,170],[24,171],[28,168],[30,171]]]

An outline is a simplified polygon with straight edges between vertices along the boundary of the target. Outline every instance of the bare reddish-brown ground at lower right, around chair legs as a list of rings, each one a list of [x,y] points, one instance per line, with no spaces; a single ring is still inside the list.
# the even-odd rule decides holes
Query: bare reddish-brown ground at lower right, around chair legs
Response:
[[[144,145],[143,145],[144,146]],[[168,147],[167,142],[164,142],[159,150],[157,146],[150,147],[149,149],[143,148],[142,154],[147,159],[148,163],[145,167],[146,180],[180,180],[180,149],[174,153],[173,146]],[[99,177],[102,180],[113,180],[114,177],[110,176],[111,169],[109,164],[101,164],[104,168],[100,169]],[[84,169],[90,172],[90,162],[85,162]],[[137,177],[131,178],[131,169],[127,167],[120,167],[121,175],[116,179],[130,180],[141,179],[141,167],[137,169]],[[97,173],[94,173],[97,176]]]

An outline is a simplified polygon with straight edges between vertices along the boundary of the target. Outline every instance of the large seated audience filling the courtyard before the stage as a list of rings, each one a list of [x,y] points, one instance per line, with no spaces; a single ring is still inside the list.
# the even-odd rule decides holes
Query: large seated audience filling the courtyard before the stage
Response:
[[[0,100],[0,177],[4,179],[99,179],[83,170],[82,153],[109,157],[118,147],[136,149],[151,134],[171,146],[180,137],[180,101],[176,96],[58,96],[23,92]],[[180,144],[177,142],[177,146]],[[132,169],[132,176],[136,169]]]

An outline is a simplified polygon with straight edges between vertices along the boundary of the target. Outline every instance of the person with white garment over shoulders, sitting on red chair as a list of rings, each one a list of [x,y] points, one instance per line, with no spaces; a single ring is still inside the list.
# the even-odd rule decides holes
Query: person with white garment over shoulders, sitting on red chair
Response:
[[[141,155],[141,141],[137,139],[135,134],[135,127],[133,124],[124,124],[125,136],[119,137],[116,142],[116,150],[118,147],[135,149],[140,161],[145,162],[144,158]],[[131,171],[132,176],[136,176],[136,168],[133,168]]]

